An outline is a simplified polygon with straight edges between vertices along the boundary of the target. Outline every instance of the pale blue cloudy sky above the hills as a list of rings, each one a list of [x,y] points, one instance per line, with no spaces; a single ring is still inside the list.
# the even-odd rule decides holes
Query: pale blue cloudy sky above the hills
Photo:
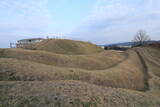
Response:
[[[0,48],[48,35],[124,42],[139,29],[160,39],[160,0],[0,0]]]

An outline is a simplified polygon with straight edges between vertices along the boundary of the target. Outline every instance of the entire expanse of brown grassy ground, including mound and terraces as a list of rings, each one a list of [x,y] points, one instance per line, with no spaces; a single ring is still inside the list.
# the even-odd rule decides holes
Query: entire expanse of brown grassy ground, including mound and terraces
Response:
[[[0,107],[160,107],[159,48],[105,51],[71,40],[35,46],[0,49]]]

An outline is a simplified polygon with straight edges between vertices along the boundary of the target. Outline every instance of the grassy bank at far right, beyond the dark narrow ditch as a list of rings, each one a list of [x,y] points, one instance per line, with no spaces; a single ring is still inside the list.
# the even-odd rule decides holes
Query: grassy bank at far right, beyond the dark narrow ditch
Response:
[[[160,96],[160,49],[155,47],[137,48],[145,61],[148,78],[148,93]]]

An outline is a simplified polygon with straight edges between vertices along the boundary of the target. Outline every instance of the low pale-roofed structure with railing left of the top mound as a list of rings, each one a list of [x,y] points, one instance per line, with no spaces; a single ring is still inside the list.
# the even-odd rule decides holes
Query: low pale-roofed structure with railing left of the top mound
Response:
[[[43,38],[29,38],[18,40],[17,43],[10,43],[10,48],[27,48],[31,47],[32,44],[43,41]]]

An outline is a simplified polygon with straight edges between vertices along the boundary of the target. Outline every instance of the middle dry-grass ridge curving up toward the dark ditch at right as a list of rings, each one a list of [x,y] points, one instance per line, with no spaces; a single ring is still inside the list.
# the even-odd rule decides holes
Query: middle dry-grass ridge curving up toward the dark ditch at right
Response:
[[[55,67],[12,58],[1,58],[0,69],[6,80],[81,80],[96,85],[143,90],[141,63],[134,51],[128,53],[128,59],[104,70]]]

